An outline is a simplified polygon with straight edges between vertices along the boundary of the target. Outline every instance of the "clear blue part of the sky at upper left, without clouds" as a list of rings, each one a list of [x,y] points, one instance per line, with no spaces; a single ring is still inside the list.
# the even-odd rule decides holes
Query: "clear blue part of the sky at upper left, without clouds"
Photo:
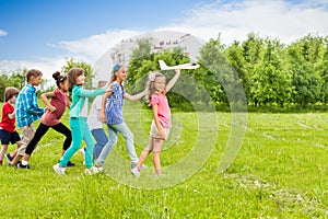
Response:
[[[149,31],[201,2],[207,1],[0,0],[0,30],[8,33],[0,38],[0,59],[47,56],[48,44],[107,30]]]

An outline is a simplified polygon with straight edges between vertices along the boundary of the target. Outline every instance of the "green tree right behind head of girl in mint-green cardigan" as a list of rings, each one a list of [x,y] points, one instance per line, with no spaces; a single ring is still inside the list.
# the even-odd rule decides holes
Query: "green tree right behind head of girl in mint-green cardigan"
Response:
[[[66,65],[61,67],[61,71],[67,73],[71,68],[82,68],[84,70],[85,83],[84,87],[86,89],[92,89],[92,79],[94,77],[92,65],[85,61],[78,61],[73,58],[66,59]]]

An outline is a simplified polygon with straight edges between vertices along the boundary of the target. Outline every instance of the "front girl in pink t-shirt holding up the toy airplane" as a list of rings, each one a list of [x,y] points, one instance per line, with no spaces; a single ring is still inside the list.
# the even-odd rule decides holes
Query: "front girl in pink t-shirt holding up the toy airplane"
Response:
[[[160,72],[152,72],[149,76],[148,90],[150,93],[147,97],[153,111],[153,120],[150,130],[149,143],[141,152],[138,165],[131,170],[131,173],[136,176],[140,176],[141,166],[150,152],[153,152],[155,173],[157,175],[162,174],[160,154],[164,140],[167,139],[172,127],[171,110],[166,93],[173,88],[180,76],[179,69],[176,69],[175,72],[175,76],[171,79],[167,85],[165,85],[166,82],[164,74]]]

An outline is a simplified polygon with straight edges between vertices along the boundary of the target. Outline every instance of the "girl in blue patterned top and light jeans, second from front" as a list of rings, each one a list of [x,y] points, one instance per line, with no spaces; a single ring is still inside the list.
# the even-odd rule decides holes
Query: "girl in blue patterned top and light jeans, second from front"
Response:
[[[131,160],[131,169],[134,168],[139,161],[136,149],[133,146],[133,134],[130,131],[129,127],[124,122],[122,117],[122,106],[124,106],[124,99],[128,101],[137,101],[144,96],[148,91],[144,90],[143,92],[131,96],[130,94],[126,93],[124,89],[124,81],[127,79],[127,70],[124,66],[116,64],[113,68],[112,73],[112,83],[113,90],[107,92],[104,95],[103,101],[103,110],[102,116],[103,122],[107,124],[107,128],[109,131],[109,139],[106,146],[103,148],[98,159],[97,159],[97,166],[103,169],[105,160],[113,149],[113,147],[117,142],[117,135],[120,132],[126,140],[127,150]]]

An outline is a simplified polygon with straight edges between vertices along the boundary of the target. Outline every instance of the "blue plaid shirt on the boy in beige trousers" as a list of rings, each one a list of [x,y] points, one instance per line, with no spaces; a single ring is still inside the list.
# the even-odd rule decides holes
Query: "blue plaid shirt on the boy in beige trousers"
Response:
[[[22,91],[20,91],[15,106],[17,127],[31,125],[45,113],[45,108],[38,107],[35,88],[30,83],[26,83]]]

